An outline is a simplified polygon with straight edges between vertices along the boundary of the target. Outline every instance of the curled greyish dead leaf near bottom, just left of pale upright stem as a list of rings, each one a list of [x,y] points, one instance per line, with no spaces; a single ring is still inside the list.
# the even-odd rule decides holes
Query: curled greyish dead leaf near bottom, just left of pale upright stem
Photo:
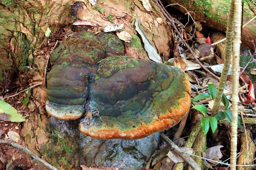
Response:
[[[222,148],[222,147],[223,147],[222,145],[219,145],[219,146],[213,146],[211,148],[208,148],[206,150],[206,152],[203,152],[203,157],[212,159],[215,161],[220,161],[220,158],[222,158],[222,156],[223,156],[220,151],[220,148]],[[218,163],[204,160],[204,165],[207,166],[208,168],[212,168],[212,166],[217,165],[217,164]]]

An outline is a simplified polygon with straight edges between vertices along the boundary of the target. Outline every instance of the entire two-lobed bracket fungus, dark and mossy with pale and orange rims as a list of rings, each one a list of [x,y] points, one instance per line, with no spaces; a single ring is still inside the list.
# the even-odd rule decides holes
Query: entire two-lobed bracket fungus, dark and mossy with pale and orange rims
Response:
[[[110,42],[115,41],[114,35],[105,36],[111,40],[104,38],[104,42],[104,35],[98,36],[100,41],[95,37],[78,34],[62,43],[72,44],[72,39],[81,38],[76,41],[80,45],[72,45],[93,49],[94,57],[88,55],[91,51],[70,50],[70,46],[59,46],[53,53],[55,65],[47,76],[46,110],[50,115],[75,120],[86,112],[79,123],[84,135],[130,140],[171,128],[184,117],[191,93],[186,73],[146,59],[116,56],[122,55],[124,48],[122,43]],[[88,44],[96,46],[89,48]],[[121,47],[111,48],[111,44]],[[66,48],[69,50],[64,52]],[[95,110],[97,114],[88,114]]]

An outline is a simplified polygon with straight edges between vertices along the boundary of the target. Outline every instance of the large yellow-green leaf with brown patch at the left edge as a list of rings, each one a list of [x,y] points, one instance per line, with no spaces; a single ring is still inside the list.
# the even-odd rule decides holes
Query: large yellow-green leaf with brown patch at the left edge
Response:
[[[25,119],[20,114],[18,114],[14,107],[2,100],[0,100],[0,120],[10,122],[25,121]]]

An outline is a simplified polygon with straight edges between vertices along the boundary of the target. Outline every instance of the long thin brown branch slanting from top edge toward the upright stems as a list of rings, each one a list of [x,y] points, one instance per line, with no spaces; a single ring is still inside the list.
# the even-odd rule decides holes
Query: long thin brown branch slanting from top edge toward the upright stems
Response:
[[[156,1],[157,6],[159,7],[159,9],[164,13],[166,19],[168,19],[168,21],[171,23],[171,25],[172,25],[173,29],[175,30],[175,32],[179,35],[180,39],[182,41],[184,41],[184,38],[180,35],[180,32],[178,31],[178,29],[176,28],[176,26],[174,24],[174,20],[173,20],[172,16],[165,10],[165,8],[164,8],[163,4],[161,3],[161,1],[158,1],[158,0],[155,0],[155,1]],[[188,48],[188,50],[192,54],[193,58],[196,60],[196,63],[198,63],[212,77],[214,77],[217,80],[220,80],[220,77],[216,76],[210,70],[208,70],[206,67],[204,67],[204,65],[196,58],[195,53],[191,50],[191,48],[188,46],[186,41],[184,41],[183,43]]]

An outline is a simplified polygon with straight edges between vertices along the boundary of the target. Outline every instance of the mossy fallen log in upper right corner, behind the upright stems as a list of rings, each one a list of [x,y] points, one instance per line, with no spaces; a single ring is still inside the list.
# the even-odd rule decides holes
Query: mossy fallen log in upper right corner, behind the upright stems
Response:
[[[168,4],[180,4],[188,11],[195,12],[195,19],[200,20],[205,26],[225,32],[228,23],[228,11],[230,1],[226,0],[165,0]],[[179,5],[172,7],[187,13],[186,9]],[[255,5],[249,1],[244,1],[243,23],[247,23],[255,16]],[[192,15],[194,16],[194,15]],[[250,47],[254,50],[251,40],[256,37],[256,20],[243,28],[242,46]]]

